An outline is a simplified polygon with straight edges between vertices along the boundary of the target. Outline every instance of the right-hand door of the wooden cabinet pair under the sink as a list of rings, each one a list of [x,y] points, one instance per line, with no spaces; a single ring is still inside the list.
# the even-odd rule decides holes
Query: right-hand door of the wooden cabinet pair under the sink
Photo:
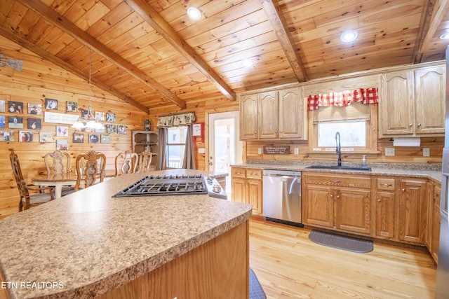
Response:
[[[335,190],[335,228],[370,234],[371,196],[368,190]]]

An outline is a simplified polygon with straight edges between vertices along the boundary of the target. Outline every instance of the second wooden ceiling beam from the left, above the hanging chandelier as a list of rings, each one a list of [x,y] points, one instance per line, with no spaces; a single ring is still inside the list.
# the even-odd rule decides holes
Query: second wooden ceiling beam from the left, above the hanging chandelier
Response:
[[[92,48],[96,52],[100,53],[100,55],[104,56],[109,62],[116,64],[118,67],[127,71],[128,74],[137,78],[140,82],[147,85],[149,88],[157,90],[164,97],[166,97],[170,102],[175,103],[181,109],[185,109],[186,103],[184,100],[180,99],[170,90],[164,88],[161,84],[154,81],[152,78],[147,76],[143,71],[140,71],[138,67],[135,67],[133,64],[123,59],[120,55],[114,53],[114,51],[107,48],[105,45],[97,41],[93,38],[93,36],[83,32],[83,30],[76,27],[76,25],[72,24],[69,20],[67,20],[62,15],[53,11],[53,9],[49,8],[41,1],[34,0],[18,0],[21,4],[26,6],[29,10],[34,11],[42,18],[46,19],[48,22],[51,22],[56,27],[59,27],[67,34],[73,36],[77,41],[82,43],[84,46],[88,48]]]

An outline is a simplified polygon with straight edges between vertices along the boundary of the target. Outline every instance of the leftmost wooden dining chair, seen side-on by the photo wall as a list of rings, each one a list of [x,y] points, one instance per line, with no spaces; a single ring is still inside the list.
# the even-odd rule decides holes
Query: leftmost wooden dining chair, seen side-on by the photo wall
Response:
[[[14,151],[11,151],[9,159],[20,194],[19,211],[54,200],[53,187],[39,187],[25,183],[18,155]]]

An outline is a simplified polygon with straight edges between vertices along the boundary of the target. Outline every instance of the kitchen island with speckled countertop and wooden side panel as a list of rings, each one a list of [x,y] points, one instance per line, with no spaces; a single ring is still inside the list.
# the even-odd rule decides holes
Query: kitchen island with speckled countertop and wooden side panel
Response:
[[[199,173],[208,174],[152,172]],[[251,206],[208,195],[113,197],[147,175],[1,219],[0,297],[248,298]]]

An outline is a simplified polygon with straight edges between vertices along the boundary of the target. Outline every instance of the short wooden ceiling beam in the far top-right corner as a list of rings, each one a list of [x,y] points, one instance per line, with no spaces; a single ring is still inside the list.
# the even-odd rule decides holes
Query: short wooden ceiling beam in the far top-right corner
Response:
[[[438,26],[443,21],[446,11],[449,9],[448,0],[427,0],[422,8],[420,32],[417,35],[415,49],[413,50],[412,63],[421,63],[422,55],[434,38]]]

